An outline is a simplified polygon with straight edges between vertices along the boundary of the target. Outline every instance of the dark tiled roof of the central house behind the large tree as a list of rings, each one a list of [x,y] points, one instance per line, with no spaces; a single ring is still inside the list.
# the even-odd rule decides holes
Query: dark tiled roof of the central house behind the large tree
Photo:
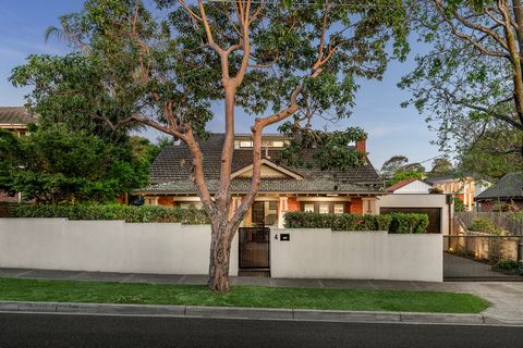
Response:
[[[223,140],[223,134],[212,134],[207,141],[200,144],[204,156],[204,173],[210,191],[215,191],[218,186]],[[281,149],[275,148],[269,148],[268,151],[264,149],[263,157],[267,161],[277,163],[283,172],[295,173],[301,178],[263,178],[259,188],[262,192],[382,192],[379,188],[381,181],[368,160],[365,165],[346,171],[321,171],[318,161],[314,158],[315,150],[304,153],[301,158],[303,164],[296,166],[279,164],[278,157],[280,151]],[[253,163],[252,156],[252,149],[235,149],[232,160],[232,172],[248,167]],[[196,192],[192,175],[191,154],[185,145],[169,146],[163,149],[153,163],[150,171],[151,185],[136,191],[162,194]],[[248,178],[238,177],[232,181],[231,189],[233,192],[245,192],[248,190],[251,181]]]

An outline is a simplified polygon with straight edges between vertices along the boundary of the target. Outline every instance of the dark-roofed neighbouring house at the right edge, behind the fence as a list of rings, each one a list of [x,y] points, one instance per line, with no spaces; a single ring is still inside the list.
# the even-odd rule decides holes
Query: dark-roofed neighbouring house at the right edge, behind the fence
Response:
[[[476,203],[478,211],[523,209],[523,172],[504,175],[496,185],[481,192]]]

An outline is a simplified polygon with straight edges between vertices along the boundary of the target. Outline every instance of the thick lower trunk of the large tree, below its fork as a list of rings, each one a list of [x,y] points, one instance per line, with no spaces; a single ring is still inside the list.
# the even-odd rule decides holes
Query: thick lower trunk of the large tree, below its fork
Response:
[[[224,224],[212,224],[211,229],[208,286],[212,291],[229,291],[229,261],[233,235]]]

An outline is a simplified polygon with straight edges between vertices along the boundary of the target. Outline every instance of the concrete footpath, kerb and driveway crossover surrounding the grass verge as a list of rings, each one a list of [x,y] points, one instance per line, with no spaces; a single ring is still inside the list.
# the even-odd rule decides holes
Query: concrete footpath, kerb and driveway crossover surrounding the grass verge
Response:
[[[207,279],[207,277],[204,275],[100,273],[1,268],[0,277],[158,284],[205,284]],[[479,314],[439,314],[404,312],[318,311],[299,309],[252,309],[223,307],[212,308],[194,306],[86,304],[1,301],[0,311],[173,315],[187,318],[242,318],[349,322],[419,322],[523,325],[523,282],[424,283],[349,279],[288,279],[241,276],[231,277],[231,284],[272,287],[316,287],[425,291],[437,290],[469,293],[488,300],[491,306],[485,312]]]

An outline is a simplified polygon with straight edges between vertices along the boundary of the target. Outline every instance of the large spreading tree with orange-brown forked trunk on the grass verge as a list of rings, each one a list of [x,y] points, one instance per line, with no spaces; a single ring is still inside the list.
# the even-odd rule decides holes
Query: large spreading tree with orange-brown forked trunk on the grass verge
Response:
[[[53,101],[82,105],[113,128],[138,123],[182,140],[193,160],[193,182],[211,221],[209,288],[229,289],[231,241],[256,197],[262,133],[291,120],[294,133],[311,133],[315,115],[348,117],[356,78],[380,78],[396,37],[394,55],[406,53],[408,26],[401,0],[325,1],[281,7],[265,1],[157,0],[156,21],[139,0],[88,0],[64,17],[78,51],[65,58],[32,57],[14,71],[15,85],[33,85],[29,104],[49,111]],[[74,33],[74,34],[72,34]],[[69,61],[64,64],[63,61]],[[58,74],[49,74],[59,65]],[[223,105],[220,178],[211,196],[199,141]],[[253,122],[253,175],[232,211],[231,164],[236,109]],[[356,140],[348,129],[337,139]],[[324,139],[325,146],[339,147]],[[338,156],[343,159],[343,156]],[[352,161],[354,157],[346,157]],[[357,164],[357,163],[356,163]]]

